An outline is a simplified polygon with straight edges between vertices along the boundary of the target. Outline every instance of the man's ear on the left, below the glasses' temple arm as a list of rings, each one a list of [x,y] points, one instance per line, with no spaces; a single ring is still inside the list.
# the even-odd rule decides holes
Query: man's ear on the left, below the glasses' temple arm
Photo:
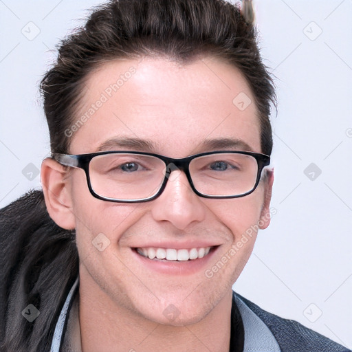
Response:
[[[67,167],[47,157],[41,164],[41,185],[50,217],[61,228],[76,228]]]

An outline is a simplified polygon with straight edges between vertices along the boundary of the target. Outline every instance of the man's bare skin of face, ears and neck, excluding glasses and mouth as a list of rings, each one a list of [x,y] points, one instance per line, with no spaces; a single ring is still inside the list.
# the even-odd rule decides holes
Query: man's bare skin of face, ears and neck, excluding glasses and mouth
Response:
[[[87,78],[77,116],[131,66],[135,74],[76,131],[69,153],[92,153],[102,142],[122,136],[151,140],[157,144],[154,153],[169,157],[210,151],[201,142],[219,137],[241,139],[262,152],[250,87],[238,69],[215,58],[187,65],[166,58],[104,63]],[[243,111],[232,103],[240,92],[252,100]],[[61,227],[76,228],[83,351],[228,351],[232,285],[252,253],[256,234],[212,278],[204,270],[221,260],[251,225],[267,228],[273,170],[252,194],[237,199],[198,197],[186,175],[174,173],[153,201],[112,203],[90,194],[83,170],[43,161],[47,210]],[[110,241],[102,252],[92,244],[99,233]],[[220,247],[211,263],[193,274],[160,274],[131,254],[132,247],[151,239],[184,242],[204,236]],[[179,311],[173,321],[163,314],[170,304]]]

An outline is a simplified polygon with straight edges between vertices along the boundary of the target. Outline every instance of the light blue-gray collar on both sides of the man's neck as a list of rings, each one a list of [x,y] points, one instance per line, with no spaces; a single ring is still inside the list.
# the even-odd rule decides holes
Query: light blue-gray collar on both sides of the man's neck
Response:
[[[234,295],[236,305],[239,308],[243,327],[245,330],[245,344],[243,352],[281,352],[278,342],[274,338],[269,328],[264,324],[248,305],[239,296]],[[79,323],[79,293],[78,278],[69,291],[63,309],[56,322],[52,347],[50,352],[82,352],[80,342],[80,323]],[[65,322],[67,320],[67,326]],[[64,333],[65,328],[65,333]]]

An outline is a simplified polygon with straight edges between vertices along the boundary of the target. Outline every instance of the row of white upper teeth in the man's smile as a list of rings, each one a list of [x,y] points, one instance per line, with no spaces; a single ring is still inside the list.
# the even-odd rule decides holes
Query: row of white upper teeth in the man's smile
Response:
[[[175,250],[174,248],[137,248],[137,252],[149,259],[166,259],[168,261],[188,261],[188,259],[203,258],[211,247],[192,248],[190,250]]]

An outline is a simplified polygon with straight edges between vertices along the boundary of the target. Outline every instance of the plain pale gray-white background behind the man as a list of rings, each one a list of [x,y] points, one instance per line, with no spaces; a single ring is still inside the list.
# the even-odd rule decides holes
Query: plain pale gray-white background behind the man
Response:
[[[98,3],[0,0],[0,208],[40,187],[50,148],[37,85],[58,39]],[[277,77],[277,214],[234,289],[351,349],[352,1],[254,4]]]

